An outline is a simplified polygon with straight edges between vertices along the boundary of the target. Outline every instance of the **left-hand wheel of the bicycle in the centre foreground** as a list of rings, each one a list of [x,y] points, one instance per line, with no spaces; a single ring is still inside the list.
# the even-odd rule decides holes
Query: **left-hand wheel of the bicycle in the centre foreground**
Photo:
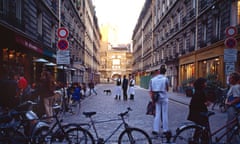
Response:
[[[67,131],[71,143],[76,144],[95,144],[92,134],[81,127],[72,128]]]

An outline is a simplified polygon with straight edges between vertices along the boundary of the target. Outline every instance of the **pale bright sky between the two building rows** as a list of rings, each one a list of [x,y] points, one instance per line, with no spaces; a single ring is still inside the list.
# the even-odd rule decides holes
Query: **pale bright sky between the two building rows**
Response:
[[[145,0],[93,0],[98,24],[117,29],[118,43],[130,43]]]

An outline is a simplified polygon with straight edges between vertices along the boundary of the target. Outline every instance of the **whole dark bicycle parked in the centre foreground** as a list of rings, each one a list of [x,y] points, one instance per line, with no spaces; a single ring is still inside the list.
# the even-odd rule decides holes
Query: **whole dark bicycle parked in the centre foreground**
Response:
[[[75,128],[78,130],[78,143],[84,143],[84,144],[105,144],[107,142],[110,142],[110,139],[113,135],[117,133],[117,131],[120,131],[120,135],[118,136],[117,143],[118,144],[152,144],[151,138],[149,135],[140,128],[131,127],[128,125],[128,123],[125,120],[125,117],[128,115],[129,111],[131,111],[131,108],[127,108],[127,110],[123,113],[118,114],[120,118],[117,119],[110,119],[110,120],[104,120],[104,121],[95,121],[93,120],[92,116],[96,114],[96,112],[83,112],[83,114],[90,119],[89,123],[86,123],[85,125],[89,124],[89,126],[93,127],[93,132],[95,134],[95,137],[90,132],[90,129],[79,127]],[[101,138],[99,136],[99,133],[96,128],[96,124],[103,124],[108,123],[112,121],[122,121],[113,131],[110,133],[110,135],[107,138]],[[123,129],[120,129],[123,128]]]

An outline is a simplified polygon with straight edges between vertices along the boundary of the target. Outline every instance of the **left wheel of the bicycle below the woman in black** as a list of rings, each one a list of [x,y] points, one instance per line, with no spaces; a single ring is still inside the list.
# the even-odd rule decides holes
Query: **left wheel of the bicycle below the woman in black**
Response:
[[[186,126],[183,129],[177,130],[173,142],[176,144],[200,144],[201,132],[202,129],[198,126]]]

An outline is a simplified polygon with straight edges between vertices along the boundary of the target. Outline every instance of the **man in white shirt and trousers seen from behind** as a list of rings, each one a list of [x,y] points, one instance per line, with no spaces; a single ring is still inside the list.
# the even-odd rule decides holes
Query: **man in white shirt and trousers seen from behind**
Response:
[[[153,122],[153,135],[158,135],[160,132],[160,123],[162,120],[163,134],[169,131],[168,128],[168,87],[169,82],[165,76],[165,65],[160,67],[160,73],[155,71],[154,76],[149,82],[150,96],[156,104],[156,113]]]

